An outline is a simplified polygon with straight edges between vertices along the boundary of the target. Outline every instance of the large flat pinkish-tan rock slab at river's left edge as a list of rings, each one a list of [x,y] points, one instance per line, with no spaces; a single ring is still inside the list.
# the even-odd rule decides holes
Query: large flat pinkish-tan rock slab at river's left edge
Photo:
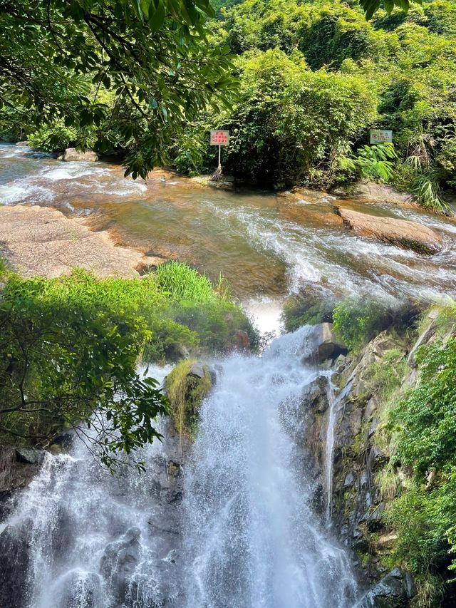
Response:
[[[24,277],[58,277],[84,268],[100,278],[139,277],[164,260],[117,247],[108,232],[93,232],[81,218],[52,207],[0,207],[0,254]]]

